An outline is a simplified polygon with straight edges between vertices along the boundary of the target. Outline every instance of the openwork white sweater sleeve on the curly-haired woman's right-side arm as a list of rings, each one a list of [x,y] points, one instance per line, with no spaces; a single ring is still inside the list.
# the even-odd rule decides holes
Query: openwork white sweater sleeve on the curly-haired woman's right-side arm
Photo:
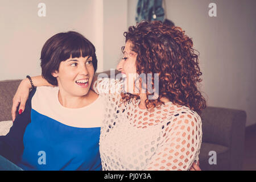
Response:
[[[194,111],[175,114],[163,125],[163,142],[146,170],[188,170],[201,146],[201,118]]]

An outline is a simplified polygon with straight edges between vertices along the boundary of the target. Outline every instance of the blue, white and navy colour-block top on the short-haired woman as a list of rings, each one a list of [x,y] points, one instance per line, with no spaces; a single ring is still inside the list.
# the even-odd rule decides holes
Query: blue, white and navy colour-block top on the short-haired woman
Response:
[[[102,97],[69,109],[60,104],[58,92],[58,87],[49,86],[33,90],[25,111],[16,117],[9,134],[0,138],[6,150],[11,148],[5,150],[7,159],[25,170],[101,170]]]

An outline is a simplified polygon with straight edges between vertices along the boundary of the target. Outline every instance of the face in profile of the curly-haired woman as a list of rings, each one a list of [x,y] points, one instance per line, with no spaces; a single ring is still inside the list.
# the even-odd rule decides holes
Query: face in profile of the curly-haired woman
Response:
[[[138,77],[136,73],[136,58],[137,53],[131,50],[132,43],[128,40],[125,44],[125,49],[123,51],[123,58],[117,65],[117,70],[121,71],[123,76],[125,76],[125,92],[135,94],[134,81]]]

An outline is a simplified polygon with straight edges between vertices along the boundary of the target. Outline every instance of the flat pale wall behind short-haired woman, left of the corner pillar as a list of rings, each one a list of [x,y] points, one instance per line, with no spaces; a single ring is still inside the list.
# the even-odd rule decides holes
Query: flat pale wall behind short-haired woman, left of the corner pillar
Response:
[[[40,51],[54,34],[75,30],[95,42],[94,0],[43,1],[46,17],[38,16],[40,2],[1,0],[0,80],[40,75]]]

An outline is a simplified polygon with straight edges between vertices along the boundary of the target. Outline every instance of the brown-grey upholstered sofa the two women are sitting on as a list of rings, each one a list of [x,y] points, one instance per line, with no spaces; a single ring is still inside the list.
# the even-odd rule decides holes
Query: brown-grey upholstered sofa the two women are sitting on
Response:
[[[20,81],[0,81],[0,135],[8,133],[13,124],[11,106]],[[199,155],[200,168],[206,171],[242,170],[245,111],[208,106],[203,110],[201,119],[203,141]]]

